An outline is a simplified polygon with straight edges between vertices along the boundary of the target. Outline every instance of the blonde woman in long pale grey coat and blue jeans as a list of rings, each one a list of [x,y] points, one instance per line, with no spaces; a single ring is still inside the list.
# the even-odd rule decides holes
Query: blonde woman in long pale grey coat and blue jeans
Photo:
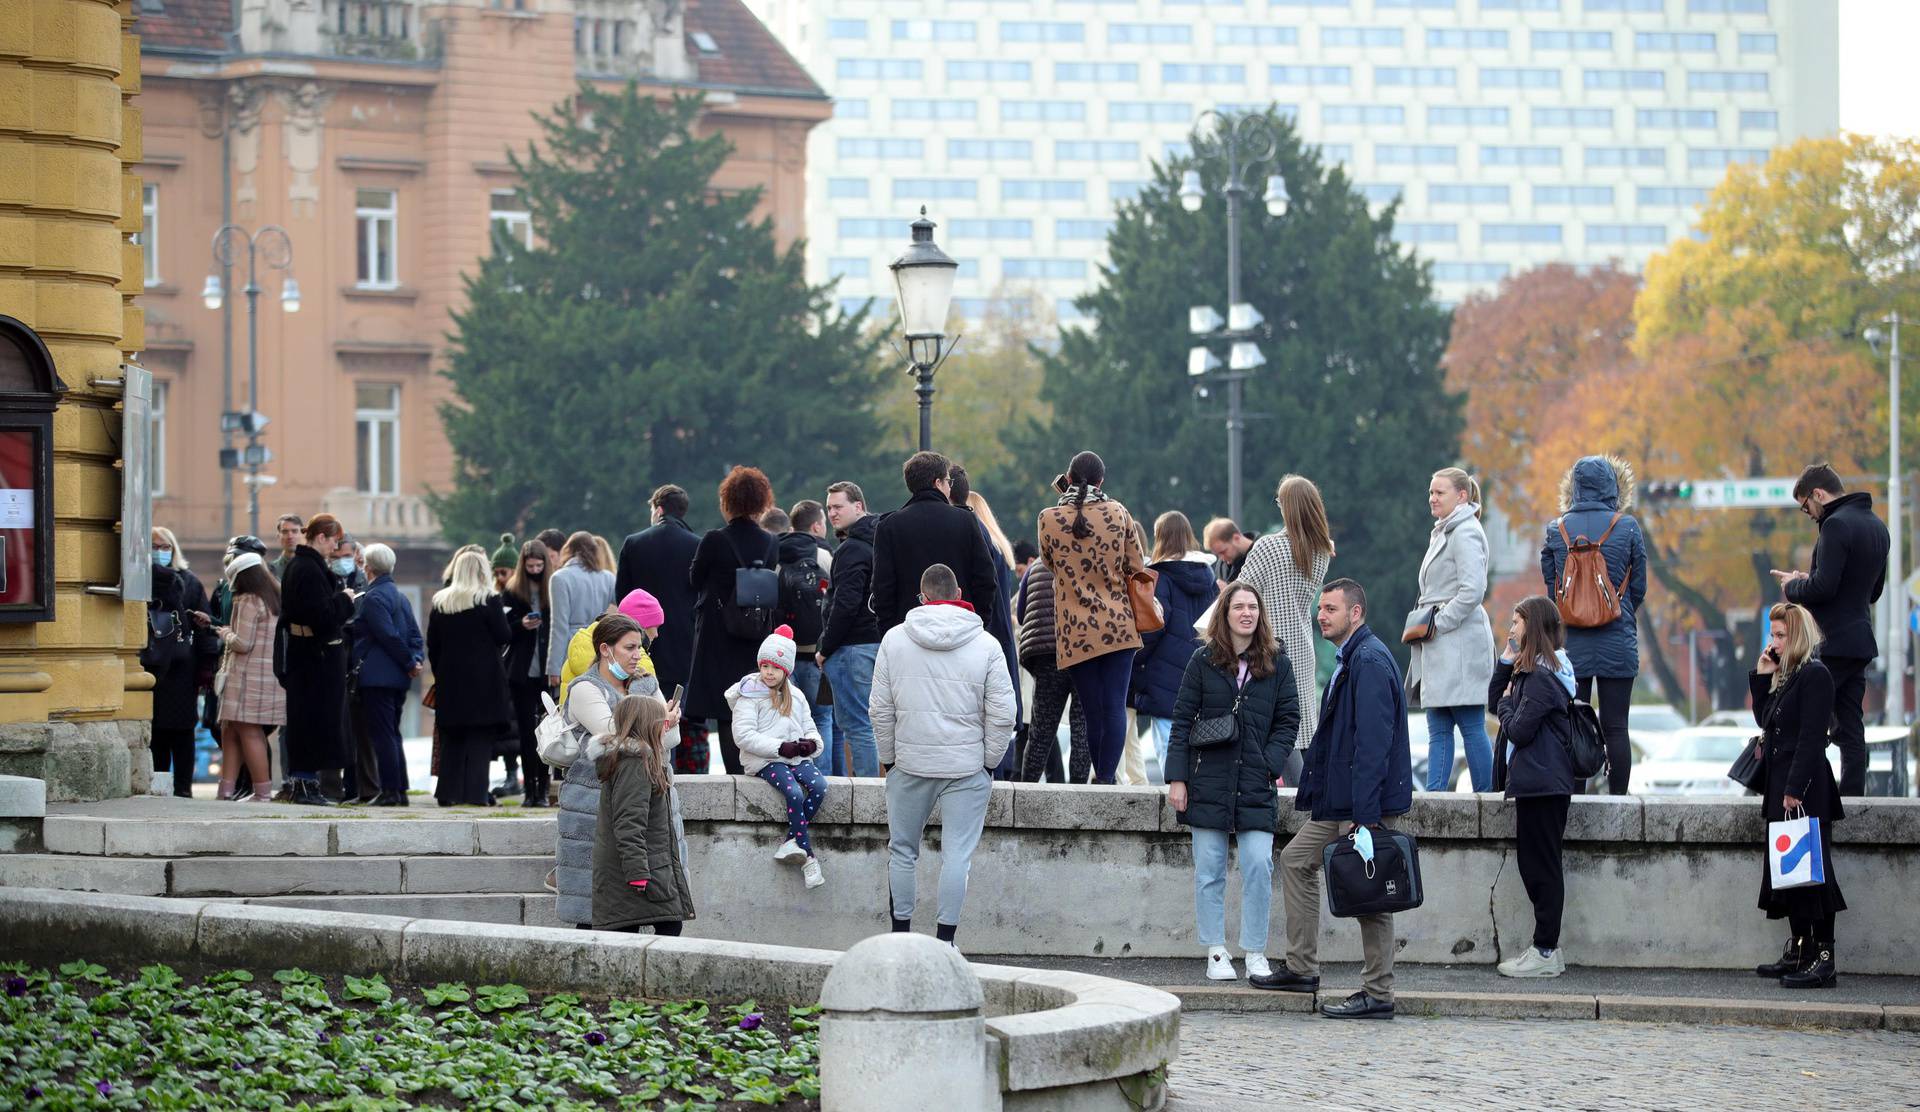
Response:
[[[1457,467],[1427,486],[1432,540],[1421,561],[1421,601],[1409,616],[1432,615],[1432,636],[1413,641],[1407,699],[1427,711],[1427,791],[1453,780],[1453,730],[1467,749],[1475,791],[1494,787],[1494,747],[1486,739],[1486,686],[1494,680],[1494,624],[1486,618],[1486,530],[1480,484]]]

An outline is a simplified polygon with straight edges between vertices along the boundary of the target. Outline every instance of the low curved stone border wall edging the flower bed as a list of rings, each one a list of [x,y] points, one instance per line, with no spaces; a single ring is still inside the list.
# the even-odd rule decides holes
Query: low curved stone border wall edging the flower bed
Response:
[[[42,887],[0,889],[0,953],[228,968],[300,964],[407,983],[509,979],[532,991],[803,1006],[820,1001],[841,956],[718,939]],[[972,970],[1002,1091],[1117,1081],[1160,1070],[1179,1052],[1181,1003],[1171,993],[1092,974]],[[1023,1004],[1035,1010],[1016,1014]]]

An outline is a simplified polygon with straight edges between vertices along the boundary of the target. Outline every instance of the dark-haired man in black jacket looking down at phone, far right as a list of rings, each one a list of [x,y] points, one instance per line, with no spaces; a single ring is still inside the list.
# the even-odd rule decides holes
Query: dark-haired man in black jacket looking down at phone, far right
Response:
[[[1866,791],[1866,666],[1880,655],[1872,605],[1887,586],[1887,526],[1874,517],[1874,496],[1847,494],[1839,474],[1814,463],[1793,484],[1801,513],[1820,522],[1811,572],[1782,572],[1789,603],[1812,611],[1820,626],[1820,661],[1834,674],[1834,743],[1839,745],[1839,793]],[[1899,615],[1897,620],[1907,620]],[[1899,680],[1895,680],[1899,682]]]

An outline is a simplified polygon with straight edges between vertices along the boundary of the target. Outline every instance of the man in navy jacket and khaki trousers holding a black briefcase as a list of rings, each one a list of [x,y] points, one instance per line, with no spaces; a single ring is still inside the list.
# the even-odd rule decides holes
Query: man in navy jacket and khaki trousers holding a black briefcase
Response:
[[[1367,592],[1334,580],[1321,592],[1321,636],[1340,647],[1321,705],[1319,728],[1306,751],[1294,809],[1311,818],[1281,851],[1286,899],[1286,964],[1256,989],[1319,989],[1321,851],[1354,826],[1375,835],[1413,807],[1413,761],[1407,749],[1407,699],[1400,666],[1367,628]],[[1365,951],[1361,991],[1321,1014],[1336,1020],[1394,1018],[1394,916],[1359,916]]]

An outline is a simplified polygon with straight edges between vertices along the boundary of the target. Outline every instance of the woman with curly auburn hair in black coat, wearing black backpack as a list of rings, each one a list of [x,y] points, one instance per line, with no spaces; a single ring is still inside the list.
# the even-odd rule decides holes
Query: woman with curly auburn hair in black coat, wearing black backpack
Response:
[[[733,572],[764,563],[780,568],[780,540],[760,528],[760,515],[774,507],[774,484],[756,467],[735,467],[720,482],[720,513],[726,524],[701,538],[687,567],[687,582],[699,595],[693,611],[693,670],[687,674],[685,714],[699,722],[720,722],[720,761],[730,776],[741,776],[739,745],[733,743],[733,707],[726,689],[756,666],[760,641],[774,632],[741,638],[726,628],[722,607],[733,603]]]

